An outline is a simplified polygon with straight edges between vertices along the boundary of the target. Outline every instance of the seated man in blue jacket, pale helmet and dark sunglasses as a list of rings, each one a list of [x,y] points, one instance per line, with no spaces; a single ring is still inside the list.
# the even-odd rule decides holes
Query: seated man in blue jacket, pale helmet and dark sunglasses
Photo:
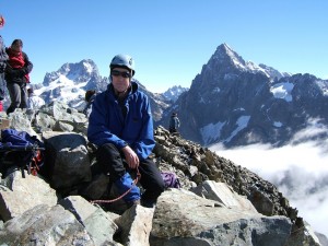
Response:
[[[87,138],[98,147],[97,162],[118,192],[132,187],[124,197],[128,207],[140,202],[152,208],[165,187],[160,169],[149,159],[155,145],[150,102],[132,81],[134,61],[130,56],[115,56],[109,68],[110,83],[93,102]],[[145,189],[142,196],[129,174],[136,168]]]

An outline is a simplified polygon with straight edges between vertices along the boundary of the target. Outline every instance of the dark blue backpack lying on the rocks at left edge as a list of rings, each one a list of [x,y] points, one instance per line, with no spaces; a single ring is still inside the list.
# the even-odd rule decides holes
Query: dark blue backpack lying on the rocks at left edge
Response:
[[[44,164],[44,143],[26,131],[1,130],[0,172],[7,176],[15,169],[36,175]]]

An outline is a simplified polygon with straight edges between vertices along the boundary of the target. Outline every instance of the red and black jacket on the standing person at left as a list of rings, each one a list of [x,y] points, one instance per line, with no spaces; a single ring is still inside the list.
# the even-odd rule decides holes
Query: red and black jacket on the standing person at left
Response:
[[[4,73],[7,83],[30,83],[28,73],[33,69],[33,63],[30,61],[27,55],[22,51],[20,59],[15,59],[17,57],[13,55],[11,48],[5,48],[5,51],[9,56]]]

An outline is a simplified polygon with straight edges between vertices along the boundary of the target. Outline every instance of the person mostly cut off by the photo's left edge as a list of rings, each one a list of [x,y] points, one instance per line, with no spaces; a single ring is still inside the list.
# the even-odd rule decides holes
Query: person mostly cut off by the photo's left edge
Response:
[[[4,25],[4,17],[0,15],[0,28]],[[4,81],[4,70],[8,60],[8,55],[5,52],[5,46],[0,35],[0,112],[3,110],[2,101],[4,99],[4,91],[5,91],[5,81]]]

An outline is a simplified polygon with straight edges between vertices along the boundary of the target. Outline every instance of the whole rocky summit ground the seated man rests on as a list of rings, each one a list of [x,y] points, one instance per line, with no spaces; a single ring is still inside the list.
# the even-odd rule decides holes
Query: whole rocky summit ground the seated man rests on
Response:
[[[0,245],[321,245],[274,185],[162,126],[151,157],[181,188],[167,188],[153,209],[122,210],[83,114],[52,102],[0,119],[45,143],[36,176],[12,169],[1,178]]]

